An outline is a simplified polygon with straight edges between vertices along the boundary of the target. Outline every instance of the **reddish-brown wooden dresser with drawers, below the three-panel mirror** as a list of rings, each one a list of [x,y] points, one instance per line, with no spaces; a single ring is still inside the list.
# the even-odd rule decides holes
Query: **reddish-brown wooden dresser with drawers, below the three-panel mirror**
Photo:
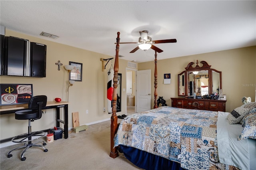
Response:
[[[226,100],[171,98],[172,107],[226,112]]]

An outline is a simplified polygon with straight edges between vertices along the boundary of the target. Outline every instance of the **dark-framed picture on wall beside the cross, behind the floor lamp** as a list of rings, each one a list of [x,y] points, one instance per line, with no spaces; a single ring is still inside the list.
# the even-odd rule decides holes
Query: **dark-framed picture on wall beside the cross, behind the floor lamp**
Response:
[[[82,81],[83,64],[69,61],[69,65],[74,65],[73,69],[70,71],[69,80]]]

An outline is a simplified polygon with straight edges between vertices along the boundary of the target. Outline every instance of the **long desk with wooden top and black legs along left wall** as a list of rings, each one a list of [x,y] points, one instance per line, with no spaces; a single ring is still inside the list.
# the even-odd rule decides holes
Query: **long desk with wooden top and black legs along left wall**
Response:
[[[56,120],[56,127],[60,127],[60,123],[64,124],[64,129],[60,128],[64,131],[64,138],[68,138],[68,104],[70,102],[67,101],[48,101],[46,103],[46,107],[43,107],[42,109],[55,109],[55,120]],[[60,120],[60,108],[63,107],[64,109],[64,121]],[[28,103],[26,104],[20,104],[20,105],[4,105],[0,106],[0,114],[11,114],[15,113],[16,111],[25,110],[28,109]]]

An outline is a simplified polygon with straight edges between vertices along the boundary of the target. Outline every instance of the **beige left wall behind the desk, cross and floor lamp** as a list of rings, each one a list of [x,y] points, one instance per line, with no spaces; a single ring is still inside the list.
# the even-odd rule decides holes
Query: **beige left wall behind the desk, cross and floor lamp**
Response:
[[[11,30],[6,30],[6,36],[24,38],[31,42],[38,42],[47,45],[46,77],[0,76],[1,83],[33,84],[34,96],[46,95],[48,97],[48,101],[54,101],[54,98],[60,97],[62,101],[67,101],[66,88],[68,72],[63,66],[68,65],[69,61],[82,63],[82,82],[76,81],[74,85],[69,88],[70,105],[68,106],[68,127],[72,127],[72,112],[79,112],[80,125],[110,119],[111,114],[108,114],[107,111],[103,112],[103,108],[107,108],[107,71],[110,68],[111,62],[106,66],[106,70],[102,72],[102,61],[100,61],[100,58],[106,59],[115,56],[114,45],[113,56],[108,56],[60,43],[34,38]],[[113,38],[113,40],[115,40],[115,38]],[[63,63],[60,71],[58,71],[58,66],[55,65],[58,60]],[[125,75],[128,63],[126,60],[119,59],[119,65],[120,69],[118,72],[122,73],[122,89],[125,89]],[[122,101],[122,111],[118,112],[117,115],[126,114],[126,92],[123,90]],[[88,114],[86,114],[86,110],[89,111]],[[43,115],[40,120],[32,123],[32,130],[36,131],[54,127],[54,115],[54,109],[46,110],[46,114]],[[27,132],[28,121],[15,120],[14,114],[1,115],[0,118],[1,140]]]

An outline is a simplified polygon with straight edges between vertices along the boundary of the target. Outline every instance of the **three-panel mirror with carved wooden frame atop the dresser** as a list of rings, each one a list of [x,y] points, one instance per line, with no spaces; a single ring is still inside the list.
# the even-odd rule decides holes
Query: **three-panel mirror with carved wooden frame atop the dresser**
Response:
[[[190,62],[185,69],[178,74],[178,96],[193,96],[194,93],[196,96],[204,96],[219,93],[222,88],[221,71],[211,69],[211,65],[206,61],[201,61],[198,65],[198,60],[196,60],[196,66],[194,62]]]

